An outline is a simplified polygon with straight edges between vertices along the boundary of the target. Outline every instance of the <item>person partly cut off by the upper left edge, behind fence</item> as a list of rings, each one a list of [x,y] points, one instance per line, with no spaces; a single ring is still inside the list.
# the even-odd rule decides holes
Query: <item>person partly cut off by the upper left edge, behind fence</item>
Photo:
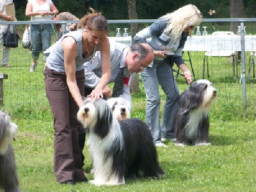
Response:
[[[0,21],[13,21],[12,15],[6,15],[6,5],[13,3],[12,0],[0,1]],[[6,33],[9,28],[10,33],[13,33],[13,25],[0,25],[0,45],[3,44],[3,33]],[[3,57],[1,61],[2,67],[9,67],[8,61],[10,58],[10,47],[3,46]]]

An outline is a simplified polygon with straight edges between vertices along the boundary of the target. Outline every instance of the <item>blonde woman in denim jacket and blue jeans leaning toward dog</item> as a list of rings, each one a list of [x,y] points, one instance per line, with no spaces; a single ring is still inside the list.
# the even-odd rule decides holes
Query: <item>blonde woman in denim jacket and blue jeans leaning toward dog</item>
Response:
[[[162,141],[175,141],[174,116],[179,88],[173,77],[172,67],[175,63],[184,72],[186,81],[192,82],[191,72],[182,60],[182,50],[187,37],[193,34],[195,26],[201,22],[202,15],[198,8],[188,4],[160,17],[134,36],[136,42],[147,43],[154,49],[154,61],[141,72],[141,79],[147,97],[146,123],[156,146],[166,147],[161,138]],[[172,55],[168,56],[168,53]],[[166,94],[161,125],[159,84]]]

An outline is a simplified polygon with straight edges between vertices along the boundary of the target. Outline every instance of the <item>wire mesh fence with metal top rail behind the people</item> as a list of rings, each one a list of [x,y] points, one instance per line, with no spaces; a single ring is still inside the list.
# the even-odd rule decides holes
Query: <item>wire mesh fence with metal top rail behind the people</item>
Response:
[[[72,21],[74,22],[74,21]],[[129,26],[131,24],[138,24],[138,30],[149,26],[154,20],[109,20],[110,33],[109,36],[119,42],[131,44],[132,36],[136,31],[131,31]],[[233,35],[212,36],[215,31],[229,31],[230,22],[237,22],[240,31],[236,31]],[[0,22],[0,24],[15,24],[15,29],[25,29],[25,24],[36,24],[38,22]],[[42,23],[42,22],[41,22]],[[48,22],[49,23],[49,22]],[[51,21],[54,23],[63,24],[68,21]],[[256,51],[256,19],[203,19],[200,26],[201,36],[196,36],[195,33],[191,39],[186,42],[184,48],[184,59],[188,67],[192,68],[195,73],[195,79],[202,79],[203,76],[223,92],[225,102],[229,102],[232,98],[232,92],[239,92],[239,103],[237,105],[247,107],[255,106],[255,58],[253,52]],[[19,28],[18,28],[19,26]],[[204,26],[207,26],[207,36],[203,36]],[[246,28],[244,28],[246,27]],[[120,28],[120,37],[116,37],[117,29]],[[127,28],[127,29],[126,29]],[[124,33],[125,30],[128,35]],[[238,29],[238,28],[237,28]],[[246,31],[244,31],[246,29]],[[28,49],[22,47],[20,33],[20,42],[18,48],[12,48],[10,51],[10,68],[0,68],[0,97],[1,102],[6,108],[13,108],[19,106],[22,108],[33,108],[34,106],[47,106],[48,102],[44,92],[44,65],[42,61],[42,54],[40,54],[40,63],[36,68],[36,72],[29,72],[29,67],[32,63],[31,54]],[[55,33],[53,30],[52,44],[55,42]],[[238,35],[237,35],[238,33]],[[246,33],[246,34],[245,34]],[[0,49],[2,49],[1,45]],[[215,47],[214,49],[212,47]],[[248,48],[249,47],[249,48]],[[232,64],[232,56],[213,56],[207,57],[208,65],[205,63],[205,52],[219,51],[224,54],[225,51],[236,52],[236,64]],[[203,71],[205,70],[205,74]],[[234,76],[233,71],[236,70],[237,76]],[[206,74],[206,72],[208,72]],[[4,75],[7,79],[1,79]],[[208,76],[209,75],[209,76]],[[6,77],[5,76],[5,77]],[[249,78],[250,77],[250,78]],[[178,77],[178,83],[183,81]],[[225,86],[228,84],[228,87]],[[2,86],[2,88],[1,88]],[[1,104],[0,102],[0,104]]]

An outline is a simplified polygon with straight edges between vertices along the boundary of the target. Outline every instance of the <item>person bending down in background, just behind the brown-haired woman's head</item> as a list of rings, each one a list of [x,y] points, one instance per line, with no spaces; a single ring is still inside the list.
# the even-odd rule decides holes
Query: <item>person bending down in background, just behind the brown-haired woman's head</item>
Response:
[[[69,13],[69,12],[62,12],[56,16],[53,17],[53,20],[79,20],[75,15]],[[70,24],[68,23],[67,24],[67,30],[63,30],[61,28],[61,24],[55,24],[55,27],[58,31],[58,39],[61,38],[61,36],[63,35],[63,31],[68,33],[68,31],[74,31],[77,29],[77,25],[78,23],[73,23],[73,24]]]

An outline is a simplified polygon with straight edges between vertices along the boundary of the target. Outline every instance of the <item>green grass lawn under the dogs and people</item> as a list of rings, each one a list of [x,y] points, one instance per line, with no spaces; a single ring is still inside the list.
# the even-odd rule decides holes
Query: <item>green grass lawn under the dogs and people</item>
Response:
[[[21,48],[12,49],[10,68],[4,79],[4,106],[17,125],[19,135],[13,141],[20,188],[23,191],[256,191],[255,151],[255,79],[246,83],[246,108],[241,84],[232,76],[227,58],[211,58],[209,80],[218,90],[210,113],[210,142],[207,147],[157,148],[159,162],[166,173],[158,180],[127,179],[124,186],[76,184],[63,186],[53,173],[53,127],[49,103],[44,92],[43,62],[30,73],[31,56]],[[204,52],[191,52],[196,79],[202,78]],[[42,58],[42,55],[40,55]],[[184,58],[188,60],[185,52]],[[189,62],[186,61],[189,68]],[[188,85],[177,79],[180,93]],[[160,89],[161,90],[161,89]],[[163,113],[164,93],[161,91]],[[145,120],[145,92],[132,93],[132,117]],[[92,161],[84,148],[84,171],[90,172]],[[93,179],[93,175],[86,175]]]

